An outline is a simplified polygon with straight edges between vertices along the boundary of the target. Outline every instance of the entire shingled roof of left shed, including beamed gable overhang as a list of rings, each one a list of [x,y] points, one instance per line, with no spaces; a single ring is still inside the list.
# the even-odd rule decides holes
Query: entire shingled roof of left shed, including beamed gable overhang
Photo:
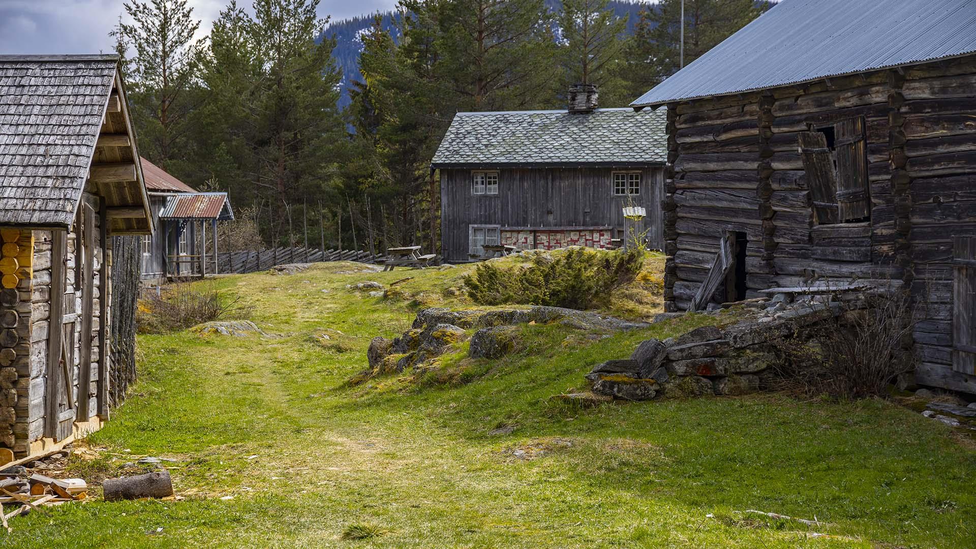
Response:
[[[118,56],[0,56],[0,224],[69,227],[102,162],[109,231],[150,232],[133,138]]]

